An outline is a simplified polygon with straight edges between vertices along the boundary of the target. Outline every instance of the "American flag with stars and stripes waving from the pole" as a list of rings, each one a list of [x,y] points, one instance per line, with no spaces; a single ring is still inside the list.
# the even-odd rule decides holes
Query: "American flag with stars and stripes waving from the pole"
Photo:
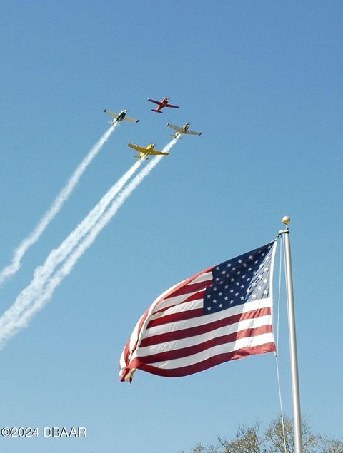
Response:
[[[179,377],[275,351],[275,248],[273,241],[207,268],[157,297],[124,347],[121,381],[137,369]]]

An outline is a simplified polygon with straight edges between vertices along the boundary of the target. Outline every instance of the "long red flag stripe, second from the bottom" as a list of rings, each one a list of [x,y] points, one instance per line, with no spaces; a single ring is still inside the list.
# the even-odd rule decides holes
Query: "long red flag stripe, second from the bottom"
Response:
[[[138,357],[140,363],[155,363],[165,362],[166,360],[181,359],[182,357],[189,357],[190,355],[197,354],[208,350],[210,347],[232,343],[241,338],[256,337],[264,333],[271,333],[273,331],[272,325],[262,325],[261,327],[252,327],[250,329],[240,330],[239,332],[232,332],[222,337],[214,337],[199,345],[181,347],[170,351],[159,352],[156,354]]]

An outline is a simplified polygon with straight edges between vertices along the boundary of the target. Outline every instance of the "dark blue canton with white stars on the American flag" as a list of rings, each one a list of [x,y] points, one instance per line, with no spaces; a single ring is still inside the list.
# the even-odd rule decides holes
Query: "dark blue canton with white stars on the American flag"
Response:
[[[269,297],[273,243],[214,266],[212,285],[204,295],[204,315]]]

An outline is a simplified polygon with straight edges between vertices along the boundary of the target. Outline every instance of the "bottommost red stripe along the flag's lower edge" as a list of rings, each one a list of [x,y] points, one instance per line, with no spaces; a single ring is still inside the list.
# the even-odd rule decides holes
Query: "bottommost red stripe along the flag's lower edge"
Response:
[[[237,351],[227,352],[225,354],[215,355],[214,357],[210,357],[206,360],[202,360],[202,362],[197,362],[194,365],[189,365],[186,367],[179,367],[166,370],[164,368],[157,368],[153,365],[147,365],[145,363],[141,363],[137,358],[132,360],[130,365],[126,367],[126,369],[131,368],[139,368],[140,370],[144,370],[147,372],[152,373],[153,375],[165,376],[165,377],[182,377],[187,375],[193,375],[199,371],[207,370],[208,368],[214,367],[219,365],[220,363],[227,362],[229,360],[237,360],[242,359],[243,357],[247,357],[249,355],[254,354],[265,354],[267,352],[275,351],[274,342],[271,343],[264,343],[264,345],[260,346],[253,346],[253,347],[243,347]],[[125,375],[127,372],[125,373]],[[121,377],[121,381],[125,380],[125,375]]]

